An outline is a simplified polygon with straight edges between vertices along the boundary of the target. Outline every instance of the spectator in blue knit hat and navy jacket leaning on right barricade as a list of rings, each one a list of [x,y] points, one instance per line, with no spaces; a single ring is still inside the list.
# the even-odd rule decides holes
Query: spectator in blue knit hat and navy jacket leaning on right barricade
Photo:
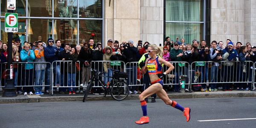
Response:
[[[223,61],[230,62],[221,62],[222,64],[222,76],[223,82],[232,82],[233,79],[233,69],[234,69],[234,61],[238,61],[238,54],[236,49],[233,48],[233,43],[230,42],[227,44],[227,47],[222,51],[222,59]],[[235,67],[236,68],[236,67]],[[230,83],[223,84],[223,91],[229,90]]]

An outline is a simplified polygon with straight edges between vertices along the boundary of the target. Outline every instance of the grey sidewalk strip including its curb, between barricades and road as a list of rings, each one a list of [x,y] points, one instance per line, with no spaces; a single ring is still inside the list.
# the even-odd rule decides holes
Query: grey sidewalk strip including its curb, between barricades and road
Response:
[[[167,92],[170,99],[194,99],[194,98],[238,98],[238,97],[256,97],[256,91],[222,91],[217,92],[192,92],[192,93],[176,93]],[[9,103],[30,103],[30,102],[73,102],[82,101],[83,94],[79,93],[76,95],[68,94],[54,94],[48,95],[28,95],[23,96],[18,95],[16,97],[2,97],[3,92],[0,91],[0,104]],[[139,94],[131,94],[125,100],[138,99]],[[159,99],[159,97],[157,97]],[[87,101],[98,101],[98,100],[113,100],[110,95],[103,97],[103,95],[93,95],[88,96]]]

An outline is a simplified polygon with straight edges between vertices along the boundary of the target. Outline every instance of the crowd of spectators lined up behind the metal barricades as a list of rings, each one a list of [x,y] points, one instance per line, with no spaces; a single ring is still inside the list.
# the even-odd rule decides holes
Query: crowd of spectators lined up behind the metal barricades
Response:
[[[178,76],[189,74],[188,65],[179,63],[185,61],[189,65],[192,64],[191,82],[192,85],[195,85],[192,86],[192,90],[198,91],[198,86],[201,91],[207,91],[209,88],[211,88],[211,91],[253,90],[252,83],[246,81],[252,81],[253,79],[256,46],[252,47],[250,43],[243,46],[241,42],[234,44],[230,39],[227,39],[226,43],[224,47],[223,41],[212,41],[208,43],[208,46],[204,40],[200,42],[193,40],[190,44],[185,42],[184,38],[181,38],[181,40],[176,38],[176,41],[173,41],[166,37],[166,41],[163,43],[164,46],[161,47],[162,52],[158,55],[166,61],[175,62],[173,63],[175,64],[175,70],[172,72],[175,78],[169,81],[170,84],[174,85],[169,89],[175,92],[180,91]],[[95,43],[93,38],[81,45],[61,45],[60,40],[54,41],[52,38],[48,38],[47,43],[44,43],[38,38],[38,41],[33,44],[23,42],[23,47],[21,47],[20,39],[16,38],[12,45],[12,61],[37,62],[37,64],[15,63],[14,85],[24,85],[24,87],[17,87],[18,94],[32,95],[35,93],[36,95],[43,95],[42,85],[45,85],[44,91],[49,93],[50,86],[47,85],[51,84],[51,74],[54,73],[54,84],[52,86],[58,87],[59,93],[83,93],[83,87],[87,86],[90,79],[90,68],[96,68],[100,72],[104,72],[106,76],[112,76],[113,67],[110,63],[100,61],[123,61],[125,64],[130,62],[126,65],[126,69],[122,68],[123,64],[119,68],[119,70],[128,73],[127,83],[137,85],[140,81],[143,81],[144,85],[143,87],[131,86],[129,93],[140,93],[150,85],[147,73],[144,76],[140,73],[140,68],[145,66],[145,59],[150,57],[147,52],[148,45],[150,43],[147,41],[143,44],[143,41],[134,43],[134,41],[129,40],[127,42],[122,41],[119,44],[119,41],[110,39],[107,46],[103,48],[102,44],[100,42]],[[7,44],[0,41],[0,48],[0,62],[4,63],[7,61]],[[54,61],[58,62],[52,63]],[[69,62],[62,63],[61,61]],[[77,61],[80,61],[80,63]],[[205,61],[206,63],[198,66],[197,63],[194,63],[195,61]],[[221,61],[225,61],[225,63]],[[239,61],[239,63],[234,63],[236,61]],[[244,61],[253,61],[253,63],[245,63]],[[48,62],[53,64],[52,70]],[[5,84],[5,77],[3,77],[5,69],[6,65],[2,64],[2,85]],[[105,84],[111,81],[109,77],[99,79],[103,79]],[[221,82],[224,84],[220,84]],[[95,83],[98,84],[98,81],[95,81]],[[168,83],[165,82],[165,84]],[[26,85],[35,85],[35,87],[26,87]],[[186,91],[189,91],[188,85],[185,88]],[[102,89],[95,87],[92,93],[100,94]],[[152,102],[154,102],[155,95],[151,97],[153,98]]]

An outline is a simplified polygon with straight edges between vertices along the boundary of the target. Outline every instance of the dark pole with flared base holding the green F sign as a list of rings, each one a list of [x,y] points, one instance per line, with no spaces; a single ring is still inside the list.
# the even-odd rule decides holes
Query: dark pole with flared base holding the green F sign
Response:
[[[7,10],[7,12],[12,13],[12,10]],[[17,96],[16,94],[16,87],[13,85],[13,79],[10,79],[10,66],[12,64],[12,38],[13,38],[13,33],[8,32],[8,44],[7,44],[7,79],[6,79],[6,86],[3,87],[3,97],[14,97]]]

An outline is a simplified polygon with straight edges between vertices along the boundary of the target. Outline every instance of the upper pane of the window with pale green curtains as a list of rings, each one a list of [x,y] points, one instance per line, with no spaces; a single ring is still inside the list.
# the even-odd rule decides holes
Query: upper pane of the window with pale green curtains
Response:
[[[202,0],[166,0],[167,21],[203,21]]]

